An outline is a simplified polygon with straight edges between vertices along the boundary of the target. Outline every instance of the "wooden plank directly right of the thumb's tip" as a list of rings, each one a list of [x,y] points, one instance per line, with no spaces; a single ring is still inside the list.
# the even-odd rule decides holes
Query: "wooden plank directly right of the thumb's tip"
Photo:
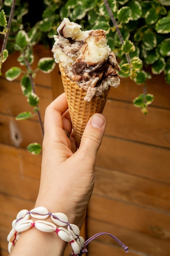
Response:
[[[105,134],[170,148],[170,110],[150,107],[148,111],[143,115],[132,103],[108,100],[103,112]]]

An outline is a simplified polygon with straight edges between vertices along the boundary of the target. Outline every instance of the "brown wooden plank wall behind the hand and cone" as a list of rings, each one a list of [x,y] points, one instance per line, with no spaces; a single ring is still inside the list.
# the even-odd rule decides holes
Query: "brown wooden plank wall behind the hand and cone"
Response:
[[[36,47],[39,58],[51,51]],[[15,54],[4,65],[4,73]],[[13,63],[12,65],[18,65]],[[42,119],[46,106],[63,92],[58,67],[35,78]],[[108,124],[97,154],[96,182],[88,206],[86,235],[109,232],[129,247],[129,256],[170,255],[170,86],[155,76],[148,86],[155,95],[147,116],[132,105],[143,88],[121,79],[111,88],[104,115]],[[20,79],[0,77],[0,256],[7,256],[7,234],[20,209],[32,209],[40,181],[41,155],[26,146],[42,143],[37,117],[16,121],[32,111],[22,95]],[[83,231],[84,232],[84,231]],[[68,248],[70,252],[70,248]],[[88,256],[125,255],[109,236],[88,246]],[[66,251],[66,255],[68,255]]]

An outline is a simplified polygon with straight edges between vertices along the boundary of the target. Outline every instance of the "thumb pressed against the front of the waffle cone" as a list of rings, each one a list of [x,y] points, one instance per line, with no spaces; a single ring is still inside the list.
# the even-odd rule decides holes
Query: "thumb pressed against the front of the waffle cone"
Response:
[[[86,151],[87,155],[96,155],[106,128],[106,118],[99,113],[91,116],[88,120],[84,133],[82,135],[79,150]]]

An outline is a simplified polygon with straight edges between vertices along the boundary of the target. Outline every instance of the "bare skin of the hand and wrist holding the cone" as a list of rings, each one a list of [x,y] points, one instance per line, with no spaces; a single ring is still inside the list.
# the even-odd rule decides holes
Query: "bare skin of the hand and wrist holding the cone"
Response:
[[[81,229],[94,187],[96,154],[105,128],[105,117],[94,114],[77,150],[65,94],[46,108],[40,189],[35,207],[65,213],[69,223]],[[64,130],[71,133],[70,139]],[[32,228],[22,232],[11,256],[63,256],[65,247],[66,242],[55,232]]]

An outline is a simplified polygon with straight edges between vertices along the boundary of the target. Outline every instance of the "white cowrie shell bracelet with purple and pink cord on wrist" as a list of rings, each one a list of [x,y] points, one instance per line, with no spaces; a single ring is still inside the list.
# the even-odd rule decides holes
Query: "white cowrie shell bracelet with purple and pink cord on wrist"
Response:
[[[35,222],[30,220],[30,216],[38,219]],[[51,217],[52,222],[44,221],[44,219]],[[57,228],[57,226],[59,226]],[[82,256],[85,252],[87,252],[86,246],[90,243],[93,239],[97,238],[101,235],[109,235],[113,239],[117,241],[122,247],[124,247],[125,252],[128,252],[128,247],[124,245],[118,238],[113,236],[112,234],[101,232],[97,233],[86,242],[84,238],[79,236],[80,230],[74,224],[70,224],[68,222],[68,218],[64,213],[51,213],[45,207],[36,207],[31,211],[28,210],[21,210],[17,216],[16,220],[12,222],[12,230],[10,231],[7,240],[9,242],[8,251],[11,254],[15,244],[17,243],[20,234],[22,231],[26,231],[35,227],[36,229],[43,231],[43,232],[55,232],[62,240],[68,242],[73,250],[73,256]],[[66,227],[66,228],[64,228]]]

